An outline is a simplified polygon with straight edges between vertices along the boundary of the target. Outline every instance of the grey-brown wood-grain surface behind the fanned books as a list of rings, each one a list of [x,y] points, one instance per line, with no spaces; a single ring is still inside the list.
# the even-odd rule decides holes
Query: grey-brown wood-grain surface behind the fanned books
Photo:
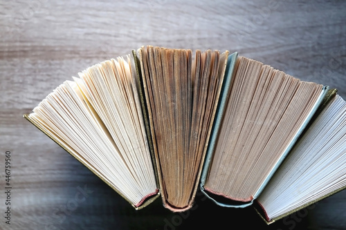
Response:
[[[159,199],[135,211],[22,117],[65,79],[142,45],[238,51],[346,98],[346,1],[2,0],[0,37],[0,229],[346,229],[346,191],[269,226],[201,195],[186,213]]]

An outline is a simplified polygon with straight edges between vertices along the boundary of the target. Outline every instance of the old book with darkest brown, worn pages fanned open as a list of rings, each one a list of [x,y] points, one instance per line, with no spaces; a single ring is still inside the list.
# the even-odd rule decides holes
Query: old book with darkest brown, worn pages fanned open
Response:
[[[139,50],[163,204],[192,207],[228,51],[147,46]]]

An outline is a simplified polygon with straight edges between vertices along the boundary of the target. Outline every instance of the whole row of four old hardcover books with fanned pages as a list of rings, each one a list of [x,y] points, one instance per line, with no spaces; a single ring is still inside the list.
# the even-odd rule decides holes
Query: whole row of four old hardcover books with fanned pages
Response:
[[[57,86],[24,117],[135,209],[197,190],[269,224],[346,187],[346,102],[228,50],[143,46]]]

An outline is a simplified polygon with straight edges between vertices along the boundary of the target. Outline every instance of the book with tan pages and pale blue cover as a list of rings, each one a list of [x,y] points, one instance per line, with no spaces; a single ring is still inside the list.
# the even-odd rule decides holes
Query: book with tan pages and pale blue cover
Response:
[[[223,206],[246,207],[293,146],[327,87],[246,57],[237,59],[232,81],[203,190]]]

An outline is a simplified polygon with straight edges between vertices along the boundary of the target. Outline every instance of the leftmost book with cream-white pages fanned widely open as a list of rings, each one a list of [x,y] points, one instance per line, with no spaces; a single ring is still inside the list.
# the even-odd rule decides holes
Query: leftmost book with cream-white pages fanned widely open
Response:
[[[130,56],[91,66],[26,118],[136,209],[158,194]]]

